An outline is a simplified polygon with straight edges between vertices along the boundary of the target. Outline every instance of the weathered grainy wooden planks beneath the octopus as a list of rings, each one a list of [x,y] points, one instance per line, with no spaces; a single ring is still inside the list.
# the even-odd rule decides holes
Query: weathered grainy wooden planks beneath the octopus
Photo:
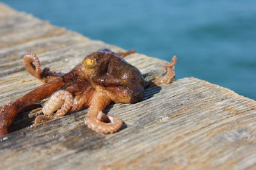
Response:
[[[98,48],[122,51],[0,4],[0,106],[41,84],[24,70],[25,53],[65,71]],[[163,74],[161,60],[138,53],[125,59],[147,80]],[[136,104],[109,106],[125,122],[115,134],[88,129],[86,110],[29,127],[36,113],[20,113],[0,138],[1,169],[256,168],[256,102],[196,78],[147,89]]]

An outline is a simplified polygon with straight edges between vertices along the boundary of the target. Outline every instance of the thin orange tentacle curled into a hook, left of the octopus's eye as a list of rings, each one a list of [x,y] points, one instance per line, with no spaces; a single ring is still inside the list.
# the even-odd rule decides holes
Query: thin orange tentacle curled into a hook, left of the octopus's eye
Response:
[[[34,63],[34,64],[33,64]],[[60,71],[54,71],[48,67],[45,67],[42,71],[40,60],[33,53],[27,53],[23,58],[23,64],[25,69],[35,78],[47,83],[48,81],[54,80],[58,76],[62,76],[64,73]]]

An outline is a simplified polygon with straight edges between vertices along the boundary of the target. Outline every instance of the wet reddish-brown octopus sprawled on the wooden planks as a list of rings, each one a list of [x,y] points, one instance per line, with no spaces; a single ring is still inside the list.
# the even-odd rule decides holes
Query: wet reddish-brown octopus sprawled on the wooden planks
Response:
[[[48,67],[41,69],[38,57],[26,54],[23,58],[25,69],[44,84],[0,109],[0,136],[8,134],[8,127],[20,111],[48,97],[42,107],[44,115],[38,115],[33,125],[89,107],[84,123],[90,129],[104,134],[118,131],[123,124],[120,118],[103,111],[111,102],[137,103],[143,98],[143,75],[122,59],[134,52],[114,53],[100,49],[84,57],[68,73]],[[164,65],[166,73],[152,81],[150,87],[172,82],[176,60],[174,56],[172,62]]]

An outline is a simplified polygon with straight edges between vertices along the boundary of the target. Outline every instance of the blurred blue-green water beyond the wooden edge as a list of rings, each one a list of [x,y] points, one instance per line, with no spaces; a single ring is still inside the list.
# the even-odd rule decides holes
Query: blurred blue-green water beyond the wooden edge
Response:
[[[256,99],[255,0],[5,0],[92,39],[159,59],[177,55],[194,76]]]

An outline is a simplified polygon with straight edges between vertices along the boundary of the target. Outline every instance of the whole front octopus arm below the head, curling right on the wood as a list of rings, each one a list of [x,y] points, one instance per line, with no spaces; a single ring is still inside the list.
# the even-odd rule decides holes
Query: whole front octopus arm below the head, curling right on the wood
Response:
[[[102,132],[105,134],[118,131],[122,126],[122,121],[114,115],[105,115],[102,110],[108,104],[111,103],[111,99],[101,92],[97,92],[92,96],[90,109],[87,113],[87,117],[84,123],[93,131]]]

